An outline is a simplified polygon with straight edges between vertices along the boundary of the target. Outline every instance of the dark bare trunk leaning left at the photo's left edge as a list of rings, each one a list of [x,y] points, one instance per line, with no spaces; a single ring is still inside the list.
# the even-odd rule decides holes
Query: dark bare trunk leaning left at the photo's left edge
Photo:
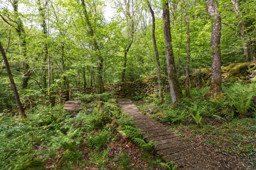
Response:
[[[23,108],[23,105],[20,102],[20,96],[19,96],[19,93],[17,91],[15,82],[13,80],[11,68],[10,68],[8,59],[6,57],[4,48],[3,48],[2,44],[1,44],[1,41],[0,41],[0,51],[1,51],[1,54],[3,56],[3,60],[4,60],[4,63],[5,63],[5,67],[6,67],[6,71],[7,71],[7,74],[9,76],[9,79],[10,79],[10,83],[11,83],[11,86],[12,86],[12,90],[13,90],[13,93],[14,93],[14,97],[15,97],[16,103],[17,103],[17,105],[19,107],[19,110],[20,110],[20,115],[21,115],[21,117],[27,117],[26,114],[25,114],[25,110]]]

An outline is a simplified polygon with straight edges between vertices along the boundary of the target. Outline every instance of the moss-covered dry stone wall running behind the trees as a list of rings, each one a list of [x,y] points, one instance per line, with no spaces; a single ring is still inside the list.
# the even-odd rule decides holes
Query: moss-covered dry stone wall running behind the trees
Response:
[[[256,66],[254,62],[250,63],[233,63],[227,67],[221,67],[221,77],[223,83],[233,83],[235,81],[243,81],[250,83],[256,80]],[[202,78],[205,82],[211,80],[212,69],[201,68],[189,74],[191,87],[202,86]],[[168,78],[161,75],[163,91],[170,92]],[[179,79],[182,89],[185,88],[185,76]],[[209,83],[210,85],[210,83]],[[132,98],[137,95],[148,96],[158,92],[157,75],[145,77],[132,82],[119,82],[105,84],[105,91],[114,92],[116,98]],[[92,88],[82,90],[84,94],[91,94]],[[58,90],[54,93],[53,103],[63,103],[68,100],[68,89]]]

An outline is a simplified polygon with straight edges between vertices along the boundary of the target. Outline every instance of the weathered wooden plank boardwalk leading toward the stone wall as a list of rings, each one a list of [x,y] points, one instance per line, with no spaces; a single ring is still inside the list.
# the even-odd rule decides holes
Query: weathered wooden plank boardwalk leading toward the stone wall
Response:
[[[164,162],[174,161],[182,170],[226,170],[227,168],[213,160],[211,155],[195,149],[191,143],[178,134],[169,131],[159,122],[143,115],[130,99],[117,99],[120,108],[135,120],[146,142],[156,141],[153,146]]]

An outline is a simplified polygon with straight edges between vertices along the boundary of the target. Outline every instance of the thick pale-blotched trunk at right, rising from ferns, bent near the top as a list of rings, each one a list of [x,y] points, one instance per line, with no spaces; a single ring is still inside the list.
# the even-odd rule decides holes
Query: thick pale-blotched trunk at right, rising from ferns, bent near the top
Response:
[[[214,4],[214,0],[206,0],[207,14],[212,18],[212,79],[208,96],[216,97],[221,93],[221,52],[220,52],[220,36],[221,36],[221,17]]]

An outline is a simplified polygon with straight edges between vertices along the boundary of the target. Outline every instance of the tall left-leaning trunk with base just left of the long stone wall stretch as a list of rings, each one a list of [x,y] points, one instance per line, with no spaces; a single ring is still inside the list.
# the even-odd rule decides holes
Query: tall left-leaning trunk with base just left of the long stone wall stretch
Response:
[[[86,10],[86,7],[85,7],[84,0],[81,0],[81,2],[82,2],[82,5],[84,7],[84,17],[85,17],[86,23],[87,23],[87,25],[90,29],[90,36],[91,36],[92,41],[93,41],[93,46],[98,52],[97,53],[97,55],[98,55],[97,69],[98,69],[99,93],[104,93],[104,84],[103,84],[103,80],[102,80],[103,57],[101,55],[101,51],[100,51],[100,48],[98,46],[98,43],[96,42],[96,39],[94,38],[94,32],[93,32],[92,25],[90,23],[90,20],[89,20],[88,14],[87,14],[87,10]]]

